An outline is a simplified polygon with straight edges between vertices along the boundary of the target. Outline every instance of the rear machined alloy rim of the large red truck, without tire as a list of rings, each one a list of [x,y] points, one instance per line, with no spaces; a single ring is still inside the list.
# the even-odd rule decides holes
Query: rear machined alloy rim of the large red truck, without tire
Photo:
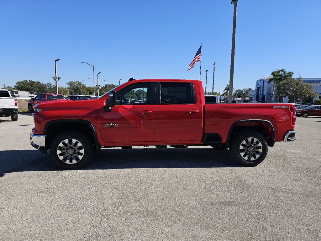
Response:
[[[240,145],[240,154],[245,161],[255,161],[262,154],[262,143],[254,137],[248,137]]]

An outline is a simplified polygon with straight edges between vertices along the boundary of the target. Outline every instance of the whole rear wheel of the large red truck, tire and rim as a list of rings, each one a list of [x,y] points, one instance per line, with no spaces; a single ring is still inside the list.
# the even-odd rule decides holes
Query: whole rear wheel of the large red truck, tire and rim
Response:
[[[268,146],[265,137],[256,131],[239,132],[230,143],[231,155],[239,164],[244,166],[260,164],[265,159],[267,151]],[[250,159],[248,159],[249,157]],[[252,158],[253,160],[251,160]]]

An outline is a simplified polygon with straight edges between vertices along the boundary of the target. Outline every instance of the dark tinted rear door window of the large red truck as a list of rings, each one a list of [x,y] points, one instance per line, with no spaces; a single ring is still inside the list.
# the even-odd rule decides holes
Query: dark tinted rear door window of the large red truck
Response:
[[[192,83],[161,82],[161,104],[194,104],[195,93]]]

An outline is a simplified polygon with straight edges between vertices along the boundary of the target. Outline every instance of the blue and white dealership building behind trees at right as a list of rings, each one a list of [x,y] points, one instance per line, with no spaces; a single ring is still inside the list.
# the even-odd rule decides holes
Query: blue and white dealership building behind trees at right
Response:
[[[273,82],[268,84],[268,81],[272,76],[266,76],[262,79],[256,80],[255,90],[249,91],[250,101],[262,101],[264,103],[271,102],[273,92]],[[315,92],[318,93],[316,98],[310,98],[303,102],[313,103],[316,99],[321,99],[321,78],[302,78],[303,83],[309,83],[313,86]],[[274,93],[273,103],[281,102],[281,96],[277,96]],[[289,102],[289,97],[284,97],[284,102]]]

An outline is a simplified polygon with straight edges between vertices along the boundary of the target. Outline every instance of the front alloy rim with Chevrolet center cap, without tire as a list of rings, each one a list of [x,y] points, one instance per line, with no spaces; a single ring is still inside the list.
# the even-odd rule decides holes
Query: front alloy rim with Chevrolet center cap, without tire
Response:
[[[66,164],[79,162],[83,154],[82,143],[76,139],[65,139],[57,147],[58,158]]]

